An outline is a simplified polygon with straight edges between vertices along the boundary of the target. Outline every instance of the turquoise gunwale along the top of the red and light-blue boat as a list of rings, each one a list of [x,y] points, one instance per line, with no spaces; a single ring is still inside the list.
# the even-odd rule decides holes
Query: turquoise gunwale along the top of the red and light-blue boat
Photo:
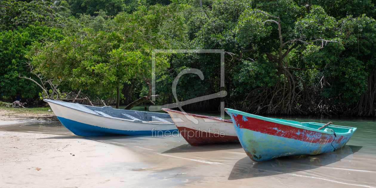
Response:
[[[250,117],[250,118],[256,118],[256,119],[259,119],[259,120],[269,121],[269,122],[272,122],[272,123],[278,123],[278,124],[282,124],[282,125],[286,125],[286,126],[296,127],[296,128],[299,128],[299,129],[311,130],[311,131],[314,131],[314,132],[325,133],[325,134],[329,134],[329,135],[334,134],[333,132],[325,131],[326,129],[325,130],[313,129],[311,127],[306,127],[306,126],[303,126],[303,125],[288,123],[288,122],[285,122],[285,121],[279,121],[279,120],[274,119],[274,118],[267,118],[267,117],[262,117],[262,116],[259,116],[259,115],[249,114],[249,113],[246,113],[246,112],[242,112],[242,111],[238,111],[238,110],[234,110],[234,109],[230,109],[230,108],[225,108],[224,111],[231,112],[233,114],[243,115],[243,116]],[[297,122],[299,122],[299,121],[297,121]],[[299,122],[299,123],[301,123],[301,122]],[[314,124],[325,125],[323,123],[316,123],[316,122],[303,122],[303,123],[314,123]],[[338,128],[349,129],[349,131],[345,132],[345,133],[335,133],[336,135],[341,135],[341,136],[352,135],[355,132],[355,130],[357,129],[356,127],[346,127],[346,126],[338,126],[338,125],[330,125],[328,127],[338,127]]]

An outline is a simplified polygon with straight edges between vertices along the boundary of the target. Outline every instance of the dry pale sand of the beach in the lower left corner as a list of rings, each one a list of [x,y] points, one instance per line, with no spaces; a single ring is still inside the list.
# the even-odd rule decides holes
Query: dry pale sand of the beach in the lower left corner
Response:
[[[2,188],[120,186],[127,178],[108,167],[135,160],[124,147],[38,133],[0,132],[0,150]]]

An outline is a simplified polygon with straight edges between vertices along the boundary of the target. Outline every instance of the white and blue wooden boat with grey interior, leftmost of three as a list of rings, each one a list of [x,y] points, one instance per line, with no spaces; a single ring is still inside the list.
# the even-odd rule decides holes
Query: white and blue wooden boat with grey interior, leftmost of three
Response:
[[[152,135],[177,129],[168,114],[112,109],[111,106],[87,106],[47,100],[61,123],[79,136],[106,134]]]

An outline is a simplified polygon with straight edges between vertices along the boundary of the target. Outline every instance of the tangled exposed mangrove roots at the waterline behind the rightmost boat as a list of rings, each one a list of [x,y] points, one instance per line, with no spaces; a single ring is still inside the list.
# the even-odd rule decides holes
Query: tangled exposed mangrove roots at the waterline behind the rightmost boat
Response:
[[[344,103],[335,102],[336,97],[324,98],[320,96],[323,87],[321,89],[307,88],[304,81],[299,77],[282,76],[284,76],[284,79],[279,79],[273,89],[253,89],[244,100],[243,106],[235,108],[252,114],[322,114],[376,117],[376,71],[367,78],[368,90],[360,96],[358,102],[348,106]],[[297,78],[300,83],[297,84],[294,78]],[[321,86],[326,84],[323,80],[320,81]],[[300,86],[296,87],[297,85]]]

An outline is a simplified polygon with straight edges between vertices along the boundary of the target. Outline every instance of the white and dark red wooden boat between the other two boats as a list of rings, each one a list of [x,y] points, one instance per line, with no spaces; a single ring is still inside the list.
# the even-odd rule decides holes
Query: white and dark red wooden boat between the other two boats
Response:
[[[193,146],[239,142],[232,120],[162,108],[170,114],[183,138]]]

